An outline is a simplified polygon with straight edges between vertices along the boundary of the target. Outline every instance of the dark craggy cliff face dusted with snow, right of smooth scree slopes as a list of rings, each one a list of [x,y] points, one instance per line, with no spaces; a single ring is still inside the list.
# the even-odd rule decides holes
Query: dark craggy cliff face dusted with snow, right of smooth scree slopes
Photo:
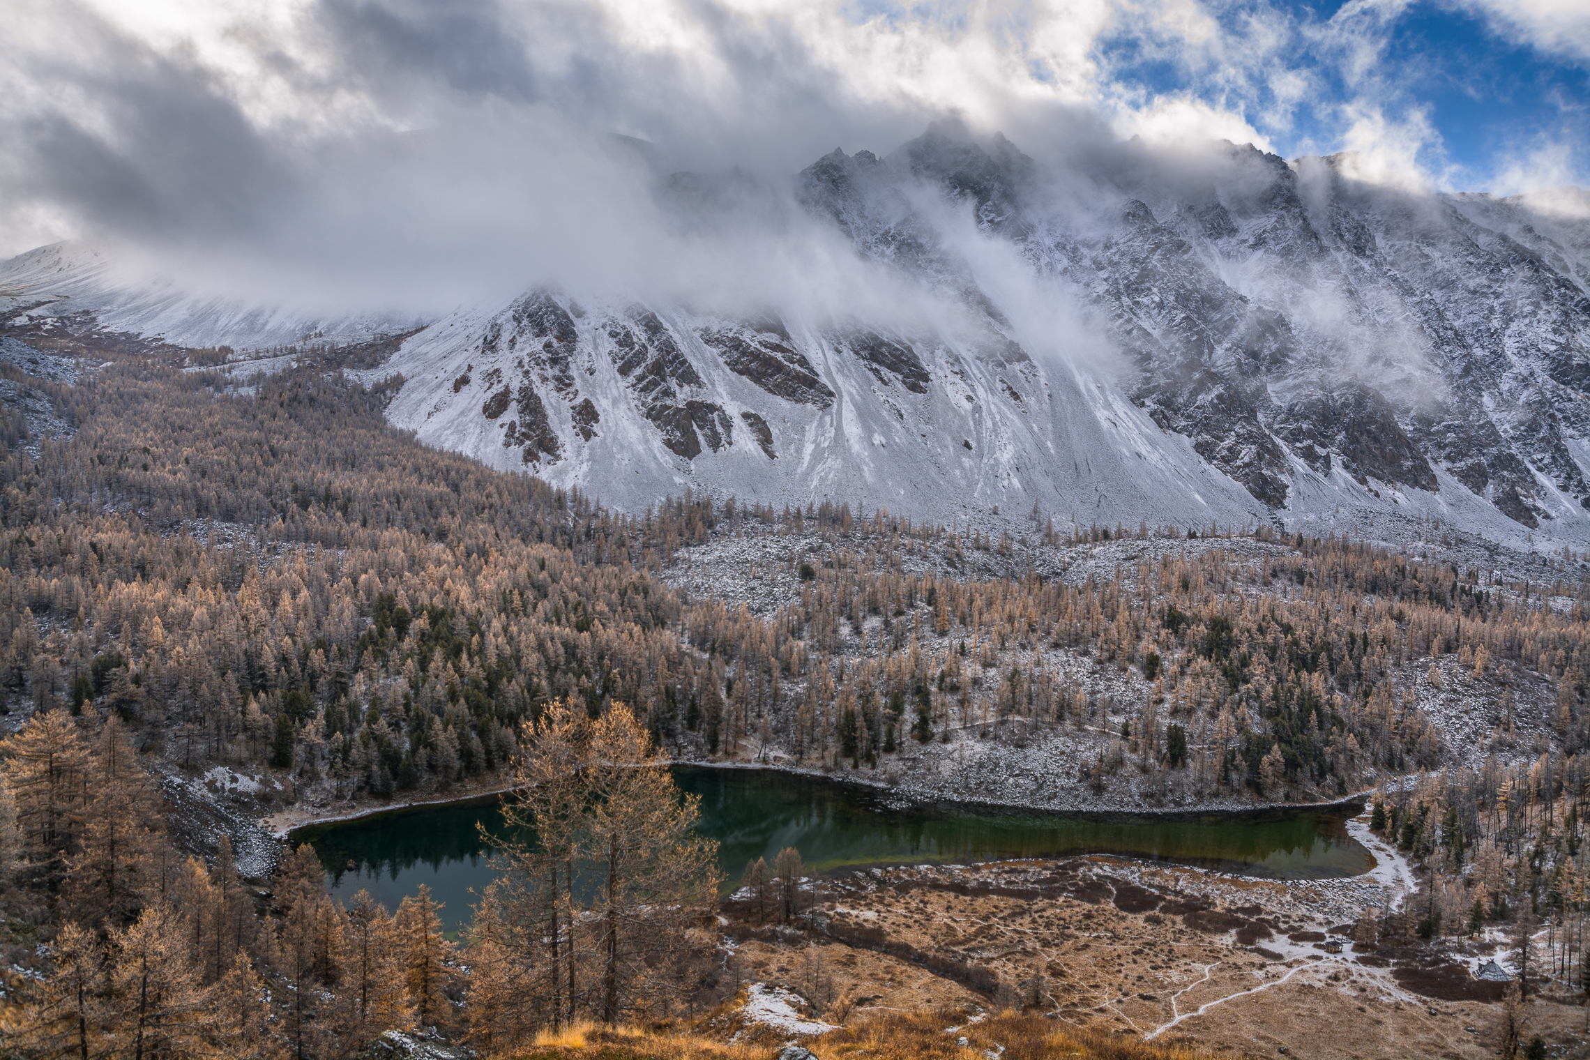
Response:
[[[1099,224],[1057,210],[1002,137],[983,151],[930,130],[887,161],[835,151],[800,189],[863,254],[962,288],[900,188],[964,202],[1092,310],[1137,369],[1130,400],[1266,509],[1293,507],[1299,474],[1340,472],[1375,499],[1439,494],[1445,478],[1528,528],[1577,521],[1584,197],[1541,210],[1394,192],[1348,180],[1347,161],[1227,146],[1204,178],[1115,180],[1115,202],[1094,197]]]

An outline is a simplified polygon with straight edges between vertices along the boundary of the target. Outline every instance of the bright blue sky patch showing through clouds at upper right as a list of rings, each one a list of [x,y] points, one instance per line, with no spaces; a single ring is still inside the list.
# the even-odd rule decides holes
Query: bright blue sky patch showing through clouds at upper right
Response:
[[[1563,178],[1587,168],[1590,57],[1561,35],[1453,3],[1200,6],[1224,48],[1186,48],[1162,25],[1121,19],[1096,40],[1105,81],[1237,111],[1289,157],[1352,146],[1355,118],[1374,110],[1455,189],[1526,181],[1541,165]],[[1304,99],[1288,99],[1299,79]]]

